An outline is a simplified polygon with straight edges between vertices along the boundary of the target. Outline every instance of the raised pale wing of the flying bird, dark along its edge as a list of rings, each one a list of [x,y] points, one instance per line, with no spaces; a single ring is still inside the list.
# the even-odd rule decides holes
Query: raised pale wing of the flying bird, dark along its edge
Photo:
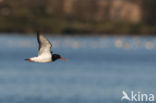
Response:
[[[43,34],[37,33],[37,41],[39,44],[38,56],[42,54],[51,54],[52,44]]]

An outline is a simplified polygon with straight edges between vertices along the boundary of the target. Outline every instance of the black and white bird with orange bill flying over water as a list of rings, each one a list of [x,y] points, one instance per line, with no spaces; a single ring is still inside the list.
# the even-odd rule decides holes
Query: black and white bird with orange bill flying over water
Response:
[[[37,33],[37,41],[39,44],[38,56],[25,59],[28,62],[48,63],[54,62],[57,59],[67,60],[61,57],[59,54],[52,54],[50,41],[41,33]]]

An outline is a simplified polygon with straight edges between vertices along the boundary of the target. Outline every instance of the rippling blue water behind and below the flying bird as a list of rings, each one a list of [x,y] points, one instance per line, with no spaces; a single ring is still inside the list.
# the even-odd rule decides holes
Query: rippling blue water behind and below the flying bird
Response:
[[[155,37],[48,38],[68,61],[28,63],[35,36],[0,36],[0,103],[121,103],[123,90],[156,94]]]

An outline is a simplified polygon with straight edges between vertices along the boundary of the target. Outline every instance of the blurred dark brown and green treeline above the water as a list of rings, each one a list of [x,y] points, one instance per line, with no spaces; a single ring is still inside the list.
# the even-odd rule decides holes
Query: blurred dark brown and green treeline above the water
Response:
[[[0,32],[155,34],[156,0],[0,0]]]

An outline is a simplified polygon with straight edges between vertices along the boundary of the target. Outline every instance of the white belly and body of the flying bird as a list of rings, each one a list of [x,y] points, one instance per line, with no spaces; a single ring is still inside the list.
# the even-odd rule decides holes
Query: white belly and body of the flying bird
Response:
[[[42,55],[39,55],[37,57],[32,57],[30,58],[34,62],[39,62],[39,63],[47,63],[52,61],[52,55],[51,53],[43,53]]]

